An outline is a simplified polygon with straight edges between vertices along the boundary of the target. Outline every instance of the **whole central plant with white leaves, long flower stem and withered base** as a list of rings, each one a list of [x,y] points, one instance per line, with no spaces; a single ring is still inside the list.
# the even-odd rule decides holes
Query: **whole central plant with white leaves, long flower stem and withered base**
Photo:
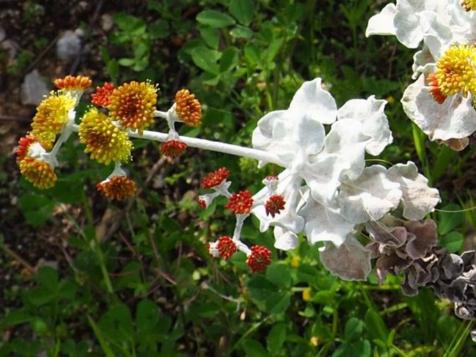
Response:
[[[435,74],[434,87],[441,86],[443,77]],[[199,101],[180,90],[166,112],[157,110],[158,87],[147,81],[117,87],[104,83],[91,94],[88,110],[76,118],[76,106],[91,81],[67,76],[55,81],[58,90],[38,106],[31,131],[19,140],[17,163],[35,187],[51,188],[57,178],[58,150],[77,132],[90,158],[114,163],[110,175],[97,183],[97,190],[109,199],[136,194],[136,183],[122,168],[131,161],[133,138],[162,142],[161,153],[170,157],[190,146],[253,158],[258,167],[272,163],[281,172],[265,176],[263,188],[254,193],[246,188],[230,192],[231,172],[226,167],[203,178],[206,192],[197,197],[199,207],[206,209],[224,196],[224,207],[236,218],[232,233],[208,242],[211,256],[227,260],[242,251],[249,269],[263,272],[272,261],[270,247],[249,247],[241,235],[245,220],[254,215],[261,232],[272,228],[277,249],[297,247],[300,237],[319,243],[322,264],[342,279],[365,280],[376,260],[380,280],[403,273],[405,293],[416,294],[419,286],[429,285],[438,296],[450,297],[450,279],[459,277],[459,288],[470,283],[474,252],[459,257],[436,247],[436,224],[425,217],[440,201],[438,190],[429,188],[411,161],[391,167],[367,165],[366,156],[379,155],[393,140],[384,113],[386,101],[371,96],[337,108],[321,82],[304,82],[288,109],[259,119],[248,148],[179,135],[177,122],[201,124]],[[451,95],[441,90],[441,96]],[[156,118],[165,119],[167,133],[149,130]],[[476,316],[473,295],[461,292],[452,301],[460,316]]]

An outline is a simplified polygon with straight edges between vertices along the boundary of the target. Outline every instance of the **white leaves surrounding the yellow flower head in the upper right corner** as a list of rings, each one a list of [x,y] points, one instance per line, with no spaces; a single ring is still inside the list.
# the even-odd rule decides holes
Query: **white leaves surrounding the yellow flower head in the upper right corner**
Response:
[[[412,49],[422,43],[413,56],[413,78],[418,80],[404,92],[404,111],[430,140],[458,150],[466,147],[467,137],[476,131],[473,98],[457,93],[439,104],[426,79],[450,47],[475,44],[476,11],[467,12],[461,0],[397,0],[370,18],[366,35],[395,35]]]

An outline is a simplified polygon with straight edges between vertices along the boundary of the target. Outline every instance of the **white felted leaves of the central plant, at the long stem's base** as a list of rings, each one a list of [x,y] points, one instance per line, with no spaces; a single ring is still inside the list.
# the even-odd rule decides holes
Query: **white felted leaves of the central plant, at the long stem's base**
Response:
[[[372,96],[337,109],[321,79],[315,78],[297,90],[287,110],[262,117],[252,136],[254,149],[274,153],[285,168],[275,187],[286,201],[284,210],[274,217],[265,213],[268,187],[253,197],[260,230],[274,226],[279,249],[293,249],[299,233],[311,244],[326,242],[325,266],[343,279],[366,279],[370,272],[370,255],[355,238],[359,225],[400,205],[404,217],[420,219],[439,201],[438,191],[427,186],[413,163],[366,167],[366,153],[377,156],[392,142],[385,104]],[[327,131],[325,124],[330,124]],[[337,267],[356,247],[361,253],[352,261],[355,269],[344,274]]]

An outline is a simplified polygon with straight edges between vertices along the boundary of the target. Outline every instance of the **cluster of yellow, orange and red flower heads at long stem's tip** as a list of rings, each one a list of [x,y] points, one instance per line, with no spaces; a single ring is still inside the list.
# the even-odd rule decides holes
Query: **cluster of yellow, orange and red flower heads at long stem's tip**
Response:
[[[120,165],[131,160],[133,144],[128,130],[142,135],[154,123],[154,118],[161,116],[157,113],[164,113],[156,111],[158,86],[149,81],[131,81],[117,88],[112,83],[104,83],[91,94],[93,106],[86,110],[77,126],[75,108],[83,92],[91,86],[91,79],[65,76],[56,79],[54,84],[58,90],[39,104],[31,132],[19,140],[17,163],[20,172],[36,187],[51,188],[56,182],[56,152],[72,131],[78,131],[79,141],[85,144],[85,153],[89,153],[90,158],[104,165],[116,165],[113,174],[97,184],[99,192],[111,199],[133,196],[136,183],[126,177]],[[175,103],[166,115],[169,113],[189,126],[198,126],[202,120],[202,107],[188,90],[177,92]],[[163,154],[170,157],[179,156],[185,150],[186,144],[176,138],[161,145]]]

